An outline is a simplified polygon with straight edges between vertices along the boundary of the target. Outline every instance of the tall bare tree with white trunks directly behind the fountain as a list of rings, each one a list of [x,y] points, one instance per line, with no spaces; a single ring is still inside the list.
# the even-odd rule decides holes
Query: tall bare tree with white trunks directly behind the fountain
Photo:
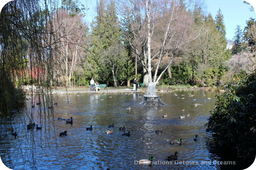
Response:
[[[125,38],[142,64],[145,84],[156,84],[178,51],[200,34],[189,30],[193,24],[188,8],[192,5],[192,0],[119,1],[118,13],[124,19]],[[159,74],[165,57],[169,58],[168,64]]]

